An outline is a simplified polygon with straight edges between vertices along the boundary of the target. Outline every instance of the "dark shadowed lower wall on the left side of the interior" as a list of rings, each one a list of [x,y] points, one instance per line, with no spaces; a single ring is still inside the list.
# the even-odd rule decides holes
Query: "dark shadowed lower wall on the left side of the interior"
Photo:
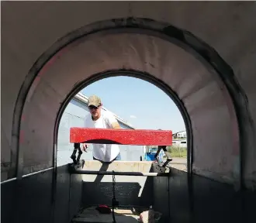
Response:
[[[67,165],[1,185],[1,222],[68,223],[81,208],[81,175],[70,175]],[[17,187],[17,184],[18,187]]]

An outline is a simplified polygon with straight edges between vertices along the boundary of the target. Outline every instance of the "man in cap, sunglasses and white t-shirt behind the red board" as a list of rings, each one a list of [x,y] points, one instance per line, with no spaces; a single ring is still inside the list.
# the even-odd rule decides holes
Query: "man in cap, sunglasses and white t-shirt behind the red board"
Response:
[[[85,117],[85,128],[121,129],[114,115],[102,110],[102,101],[98,96],[92,95],[88,98],[88,108],[90,114]],[[121,160],[119,146],[116,144],[92,144],[92,146],[93,160],[107,163]],[[83,143],[83,149],[86,151],[87,148],[86,143]]]

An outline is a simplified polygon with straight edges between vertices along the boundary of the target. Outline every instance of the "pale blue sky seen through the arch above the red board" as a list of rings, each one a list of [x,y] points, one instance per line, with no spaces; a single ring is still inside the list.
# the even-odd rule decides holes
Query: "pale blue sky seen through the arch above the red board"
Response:
[[[81,93],[96,94],[104,107],[137,129],[185,130],[181,113],[164,91],[134,77],[109,77],[85,87]]]

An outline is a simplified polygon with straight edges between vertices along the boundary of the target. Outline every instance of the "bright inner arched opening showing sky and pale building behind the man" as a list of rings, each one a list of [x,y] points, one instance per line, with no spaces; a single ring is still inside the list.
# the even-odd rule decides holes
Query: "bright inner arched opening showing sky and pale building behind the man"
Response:
[[[177,95],[169,87],[160,84],[159,81],[157,81],[157,86],[161,88],[151,84],[154,82],[153,77],[150,80],[140,72],[130,71],[129,74],[126,71],[123,74],[122,70],[116,70],[116,72],[109,71],[107,74],[109,77],[92,84],[87,85],[86,81],[82,83],[81,87],[86,87],[81,91],[74,91],[74,93],[78,91],[79,93],[71,98],[67,107],[64,108],[58,129],[57,166],[71,161],[70,149],[73,145],[69,143],[69,128],[84,126],[85,117],[89,114],[88,96],[97,94],[102,98],[103,106],[105,106],[102,110],[113,112],[122,129],[171,130],[174,133],[174,142],[173,146],[168,146],[168,152],[171,153],[173,163],[178,168],[186,170],[187,158],[189,159],[186,129],[191,132],[191,127],[182,101],[178,100]],[[187,118],[185,119],[186,125],[183,118]],[[176,132],[178,133],[175,134]],[[177,137],[181,134],[179,132],[185,133],[185,136]],[[188,135],[192,136],[191,133]],[[155,160],[156,146],[123,145],[119,147],[123,161]],[[82,154],[81,159],[92,160],[92,146],[89,146],[87,152]]]

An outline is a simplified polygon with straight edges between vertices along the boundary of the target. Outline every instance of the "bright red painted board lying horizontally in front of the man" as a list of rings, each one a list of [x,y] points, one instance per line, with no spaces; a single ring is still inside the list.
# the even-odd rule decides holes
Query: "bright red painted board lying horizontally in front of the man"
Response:
[[[71,128],[70,142],[138,146],[171,146],[172,132],[171,130]]]

